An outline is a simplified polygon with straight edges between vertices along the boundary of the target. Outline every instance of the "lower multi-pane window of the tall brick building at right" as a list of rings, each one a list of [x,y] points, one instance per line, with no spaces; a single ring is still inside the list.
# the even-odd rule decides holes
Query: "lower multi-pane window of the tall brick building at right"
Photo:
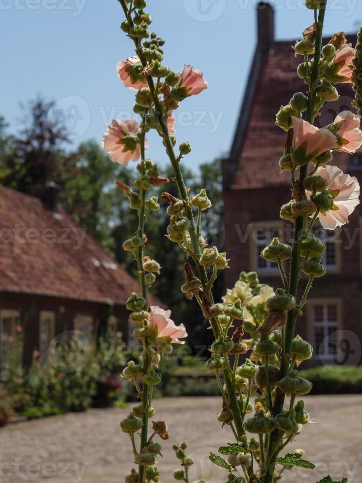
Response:
[[[335,304],[312,306],[314,355],[332,359],[338,350],[338,307]]]

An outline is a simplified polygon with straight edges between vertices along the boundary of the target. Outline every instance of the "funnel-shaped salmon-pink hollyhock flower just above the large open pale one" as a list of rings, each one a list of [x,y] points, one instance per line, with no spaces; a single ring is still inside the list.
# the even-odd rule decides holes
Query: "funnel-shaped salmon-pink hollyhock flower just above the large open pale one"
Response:
[[[318,129],[307,121],[292,117],[294,130],[294,145],[297,149],[307,143],[306,156],[318,156],[337,146],[337,138],[327,129]]]

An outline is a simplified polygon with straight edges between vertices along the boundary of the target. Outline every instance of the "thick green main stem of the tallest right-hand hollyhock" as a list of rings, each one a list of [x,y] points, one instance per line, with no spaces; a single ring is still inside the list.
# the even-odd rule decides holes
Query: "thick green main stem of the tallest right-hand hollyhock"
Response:
[[[319,74],[319,62],[321,58],[322,52],[322,38],[323,38],[323,24],[324,18],[326,14],[326,6],[327,1],[322,2],[321,8],[319,10],[318,15],[318,22],[316,24],[316,43],[315,43],[315,53],[314,53],[314,63],[313,63],[313,70],[311,74],[311,81],[310,81],[310,90],[308,94],[308,106],[307,106],[307,113],[306,113],[306,120],[309,123],[314,122],[314,105],[317,97],[316,86],[315,82],[318,78]],[[304,178],[308,173],[308,165],[302,166],[300,168],[299,179],[303,182]],[[290,272],[290,282],[289,282],[289,293],[296,298],[297,294],[297,286],[298,286],[298,277],[299,277],[299,260],[300,260],[300,242],[298,241],[301,231],[303,229],[303,217],[299,216],[296,219],[295,225],[295,232],[294,232],[294,243],[293,243],[293,251],[292,251],[292,261],[291,261],[291,272]],[[296,309],[292,309],[288,312],[287,317],[287,326],[285,329],[285,341],[284,341],[284,357],[282,358],[282,362],[280,365],[280,379],[283,379],[287,376],[290,364],[290,354],[292,349],[292,342],[294,338],[294,331],[296,326],[296,317],[299,311]],[[283,410],[285,395],[281,392],[277,392],[275,401],[274,401],[274,408],[273,408],[273,416],[279,414]],[[272,433],[269,442],[269,452],[273,448],[273,444],[275,444],[280,439],[280,431],[275,430]],[[274,447],[275,448],[275,447]],[[273,472],[275,467],[275,460],[278,455],[277,449],[269,456],[269,468],[267,469],[267,473],[265,475],[265,479],[263,483],[272,483],[273,479]]]

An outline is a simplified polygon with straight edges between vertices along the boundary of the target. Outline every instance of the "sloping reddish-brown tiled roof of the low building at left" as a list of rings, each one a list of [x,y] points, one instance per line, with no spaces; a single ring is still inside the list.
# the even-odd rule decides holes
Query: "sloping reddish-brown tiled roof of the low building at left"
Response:
[[[139,292],[132,276],[61,207],[51,211],[37,198],[0,187],[0,219],[0,292],[109,298],[118,305]]]

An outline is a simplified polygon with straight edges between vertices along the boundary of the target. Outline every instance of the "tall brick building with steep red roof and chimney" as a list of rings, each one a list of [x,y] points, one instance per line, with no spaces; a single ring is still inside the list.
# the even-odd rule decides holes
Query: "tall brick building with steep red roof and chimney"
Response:
[[[286,133],[275,125],[275,113],[306,85],[297,77],[302,58],[293,55],[295,40],[274,38],[274,12],[271,5],[258,5],[258,44],[252,61],[241,113],[230,157],[223,162],[224,223],[226,251],[232,260],[227,287],[241,270],[256,270],[264,283],[280,286],[278,268],[260,258],[270,240],[291,239],[291,226],[279,219],[281,205],[291,199],[290,174],[280,175],[278,160]],[[305,26],[306,28],[308,25]],[[330,33],[331,35],[333,33]],[[331,37],[326,37],[327,43]],[[348,35],[356,44],[357,36]],[[351,84],[337,86],[340,99],[327,103],[317,122],[319,127],[351,109]],[[332,161],[344,173],[356,176],[362,184],[362,154],[337,154]],[[327,244],[323,262],[327,275],[315,280],[297,332],[314,347],[314,361],[356,364],[361,358],[362,336],[362,207],[356,208],[343,229],[318,235]],[[302,279],[300,291],[304,289]]]

